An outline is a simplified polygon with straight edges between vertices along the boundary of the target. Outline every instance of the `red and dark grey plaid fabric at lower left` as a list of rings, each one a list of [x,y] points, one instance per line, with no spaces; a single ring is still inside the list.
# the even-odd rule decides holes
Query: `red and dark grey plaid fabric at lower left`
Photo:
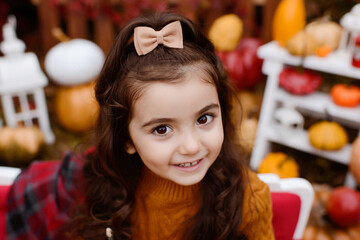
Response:
[[[62,161],[37,161],[16,178],[7,199],[6,239],[56,239],[81,201],[83,157],[67,152]]]

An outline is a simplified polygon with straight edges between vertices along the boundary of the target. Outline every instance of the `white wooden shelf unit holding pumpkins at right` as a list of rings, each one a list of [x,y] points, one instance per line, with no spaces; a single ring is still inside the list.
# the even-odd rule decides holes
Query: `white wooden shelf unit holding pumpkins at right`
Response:
[[[350,160],[350,144],[338,151],[319,150],[311,146],[307,131],[304,129],[284,137],[279,134],[279,127],[273,120],[273,112],[279,103],[292,105],[304,114],[319,118],[323,118],[327,111],[334,121],[359,130],[360,106],[356,108],[340,107],[333,103],[329,94],[314,92],[310,95],[297,96],[279,87],[279,74],[284,66],[299,66],[301,63],[307,69],[360,80],[360,69],[350,64],[350,54],[335,51],[325,58],[308,56],[302,61],[300,57],[289,54],[276,42],[270,42],[259,48],[258,55],[264,59],[262,71],[268,77],[250,166],[255,170],[258,168],[261,160],[271,151],[272,142],[347,165]],[[345,185],[356,186],[350,172],[347,173]]]

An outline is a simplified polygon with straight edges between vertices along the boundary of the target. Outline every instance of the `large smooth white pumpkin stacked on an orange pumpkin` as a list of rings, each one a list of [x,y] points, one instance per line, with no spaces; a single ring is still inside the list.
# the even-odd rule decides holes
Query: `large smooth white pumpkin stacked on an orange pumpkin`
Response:
[[[45,70],[60,85],[80,85],[96,78],[104,61],[103,51],[94,42],[73,39],[49,50],[45,56]]]

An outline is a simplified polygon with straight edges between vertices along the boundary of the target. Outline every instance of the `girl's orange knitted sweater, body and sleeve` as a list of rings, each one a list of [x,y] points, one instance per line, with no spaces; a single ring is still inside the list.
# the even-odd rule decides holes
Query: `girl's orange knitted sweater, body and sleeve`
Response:
[[[249,172],[240,230],[248,240],[273,240],[268,186]],[[199,207],[200,183],[181,186],[145,170],[136,191],[131,218],[134,240],[181,239],[181,225]]]

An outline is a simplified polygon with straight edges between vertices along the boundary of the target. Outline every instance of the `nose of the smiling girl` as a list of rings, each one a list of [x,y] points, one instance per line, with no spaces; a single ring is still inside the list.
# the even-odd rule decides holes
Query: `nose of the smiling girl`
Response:
[[[184,133],[180,141],[179,153],[182,155],[193,155],[201,149],[201,141],[196,131]]]

